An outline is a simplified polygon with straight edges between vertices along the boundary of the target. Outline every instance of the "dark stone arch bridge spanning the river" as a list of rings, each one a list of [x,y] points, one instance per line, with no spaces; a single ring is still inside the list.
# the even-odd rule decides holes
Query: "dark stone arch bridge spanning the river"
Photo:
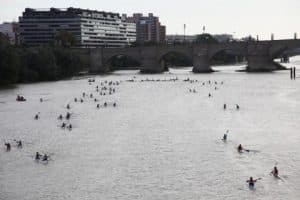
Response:
[[[219,44],[189,44],[165,46],[139,46],[127,48],[94,48],[89,50],[90,72],[110,71],[109,61],[115,56],[124,55],[141,63],[145,73],[160,73],[165,70],[163,57],[171,52],[183,54],[193,61],[193,72],[211,72],[211,59],[221,51],[242,55],[247,58],[247,71],[273,71],[280,67],[273,60],[284,52],[300,48],[300,40],[271,40],[251,42],[229,42]]]

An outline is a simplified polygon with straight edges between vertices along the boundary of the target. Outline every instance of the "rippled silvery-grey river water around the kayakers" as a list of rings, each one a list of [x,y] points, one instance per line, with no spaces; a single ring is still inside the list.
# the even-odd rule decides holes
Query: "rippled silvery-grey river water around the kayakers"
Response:
[[[95,76],[91,85],[82,78],[0,91],[0,199],[300,199],[300,81],[288,71],[233,68],[117,71]],[[105,80],[121,81],[115,94],[96,92]],[[75,103],[82,92],[108,106],[97,109],[89,97]],[[27,101],[16,102],[18,94]],[[67,104],[72,131],[57,119]],[[4,142],[12,143],[10,152]],[[239,154],[240,143],[256,151]],[[37,151],[50,161],[35,161]],[[282,180],[269,175],[275,165]],[[254,190],[246,184],[250,176],[262,178]]]

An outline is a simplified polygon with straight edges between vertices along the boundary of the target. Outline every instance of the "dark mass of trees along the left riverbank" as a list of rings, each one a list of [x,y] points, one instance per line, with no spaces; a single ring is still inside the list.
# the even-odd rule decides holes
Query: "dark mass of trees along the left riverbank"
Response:
[[[55,81],[76,75],[82,61],[63,46],[17,47],[0,36],[0,85]]]

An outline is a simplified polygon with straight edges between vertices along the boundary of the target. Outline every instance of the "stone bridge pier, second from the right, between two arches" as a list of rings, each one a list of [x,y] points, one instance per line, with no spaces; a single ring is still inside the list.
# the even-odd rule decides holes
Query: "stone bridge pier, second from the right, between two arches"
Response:
[[[213,70],[210,68],[209,56],[205,49],[194,49],[193,53],[193,72],[194,73],[210,73]]]

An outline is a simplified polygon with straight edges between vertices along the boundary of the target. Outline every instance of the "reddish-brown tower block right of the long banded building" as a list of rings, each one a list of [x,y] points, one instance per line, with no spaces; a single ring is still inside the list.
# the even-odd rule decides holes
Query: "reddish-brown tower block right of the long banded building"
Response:
[[[149,13],[148,16],[135,13],[132,17],[127,17],[127,21],[136,24],[137,42],[138,43],[165,43],[166,26],[162,26],[159,17]]]

